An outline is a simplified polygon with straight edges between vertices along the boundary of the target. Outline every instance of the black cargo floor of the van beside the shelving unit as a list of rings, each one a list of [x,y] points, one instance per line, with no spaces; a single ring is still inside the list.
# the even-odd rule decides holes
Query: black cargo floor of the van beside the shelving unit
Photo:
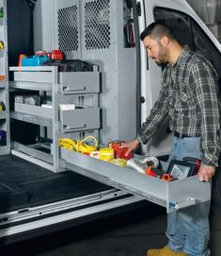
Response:
[[[13,155],[0,156],[0,213],[102,192],[110,187],[72,171],[53,173]]]

